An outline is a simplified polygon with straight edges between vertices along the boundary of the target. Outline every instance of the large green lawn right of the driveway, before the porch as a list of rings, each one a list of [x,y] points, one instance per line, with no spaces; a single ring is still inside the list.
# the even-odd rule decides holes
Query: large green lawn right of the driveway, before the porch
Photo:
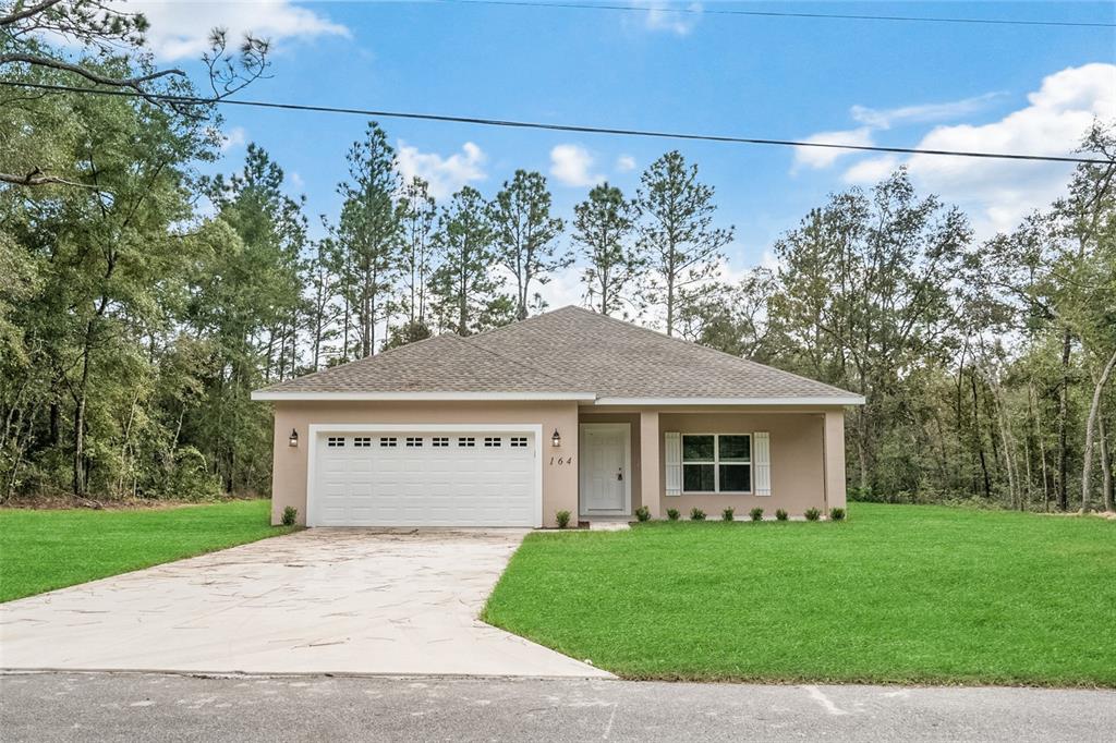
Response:
[[[849,511],[531,534],[484,619],[629,678],[1116,686],[1116,522]]]

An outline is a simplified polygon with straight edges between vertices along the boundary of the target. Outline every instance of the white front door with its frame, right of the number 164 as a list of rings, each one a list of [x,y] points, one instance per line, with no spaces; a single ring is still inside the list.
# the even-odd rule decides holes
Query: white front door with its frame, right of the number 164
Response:
[[[581,515],[632,513],[632,431],[626,423],[583,423],[580,446]]]

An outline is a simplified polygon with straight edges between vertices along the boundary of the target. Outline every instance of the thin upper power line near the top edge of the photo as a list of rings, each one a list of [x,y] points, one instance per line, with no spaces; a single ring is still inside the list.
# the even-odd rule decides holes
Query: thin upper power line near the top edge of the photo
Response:
[[[692,16],[751,16],[763,18],[810,18],[866,21],[908,21],[916,23],[978,23],[984,26],[1061,26],[1070,28],[1116,28],[1103,21],[1048,21],[1010,18],[943,18],[932,16],[867,16],[853,13],[807,13],[782,10],[739,10],[725,8],[686,8],[672,6],[615,6],[596,2],[526,2],[525,0],[434,0],[455,6],[508,6],[514,8],[562,8],[576,10],[617,10],[627,12],[672,12]]]

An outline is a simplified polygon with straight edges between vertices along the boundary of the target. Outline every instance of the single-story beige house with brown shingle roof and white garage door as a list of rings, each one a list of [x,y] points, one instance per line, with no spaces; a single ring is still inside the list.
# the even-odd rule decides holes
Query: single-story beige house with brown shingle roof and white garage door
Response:
[[[437,336],[252,394],[275,406],[272,520],[552,527],[646,506],[845,505],[864,398],[577,307]]]

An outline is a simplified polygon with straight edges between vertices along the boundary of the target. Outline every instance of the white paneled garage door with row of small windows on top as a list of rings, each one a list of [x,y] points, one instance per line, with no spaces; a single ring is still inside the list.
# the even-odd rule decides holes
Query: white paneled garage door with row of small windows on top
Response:
[[[538,525],[535,446],[526,432],[318,434],[310,524]]]

